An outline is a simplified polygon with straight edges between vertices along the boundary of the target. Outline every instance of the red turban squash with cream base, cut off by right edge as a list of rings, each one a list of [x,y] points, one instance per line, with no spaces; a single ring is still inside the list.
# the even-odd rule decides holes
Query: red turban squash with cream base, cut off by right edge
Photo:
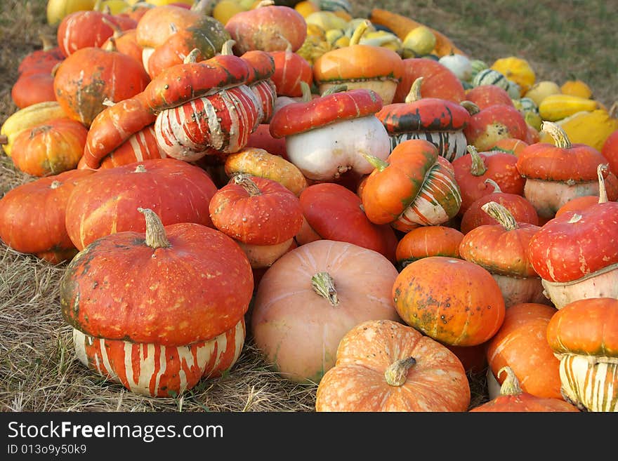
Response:
[[[618,202],[601,201],[567,211],[530,240],[532,267],[558,309],[582,298],[618,298],[617,210]]]

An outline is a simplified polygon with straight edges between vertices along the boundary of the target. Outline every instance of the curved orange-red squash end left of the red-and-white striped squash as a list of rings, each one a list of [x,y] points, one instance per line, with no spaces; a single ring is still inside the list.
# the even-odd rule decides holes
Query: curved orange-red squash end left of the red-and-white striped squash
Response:
[[[88,168],[99,168],[105,156],[120,147],[129,138],[156,120],[146,107],[144,93],[126,98],[116,104],[106,105],[93,119],[86,145],[84,163]],[[143,160],[138,159],[137,160]]]

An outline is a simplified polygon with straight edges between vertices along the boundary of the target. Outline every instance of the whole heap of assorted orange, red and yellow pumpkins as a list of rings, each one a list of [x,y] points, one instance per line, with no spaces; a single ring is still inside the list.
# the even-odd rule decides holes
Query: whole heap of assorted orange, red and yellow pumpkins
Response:
[[[485,368],[472,410],[618,409],[618,120],[584,82],[346,0],[113,1],[1,128],[34,178],[0,238],[68,262],[84,365],[177,395],[249,331],[318,411],[466,411]]]

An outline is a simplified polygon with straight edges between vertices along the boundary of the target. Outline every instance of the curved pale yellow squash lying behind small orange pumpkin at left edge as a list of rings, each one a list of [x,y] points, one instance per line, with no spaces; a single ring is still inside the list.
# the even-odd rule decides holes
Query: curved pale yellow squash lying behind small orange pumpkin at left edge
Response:
[[[60,119],[65,116],[67,114],[57,101],[37,102],[13,112],[0,128],[0,145],[2,145],[4,153],[11,156],[13,142],[22,131],[48,120]]]

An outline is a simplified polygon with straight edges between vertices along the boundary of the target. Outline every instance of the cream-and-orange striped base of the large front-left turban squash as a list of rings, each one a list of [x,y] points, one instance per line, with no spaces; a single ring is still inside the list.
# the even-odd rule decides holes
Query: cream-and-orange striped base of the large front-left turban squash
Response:
[[[73,329],[81,363],[131,392],[152,397],[178,396],[202,377],[218,377],[236,363],[244,339],[244,318],[211,340],[183,346],[105,340]]]

